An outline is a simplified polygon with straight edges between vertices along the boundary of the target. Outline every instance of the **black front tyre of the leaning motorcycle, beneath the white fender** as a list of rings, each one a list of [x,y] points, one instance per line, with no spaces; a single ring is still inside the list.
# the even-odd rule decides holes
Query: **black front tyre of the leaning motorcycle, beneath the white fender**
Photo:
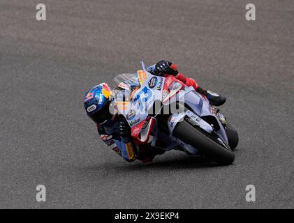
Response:
[[[235,154],[228,148],[200,132],[186,121],[177,123],[173,135],[186,144],[197,148],[208,158],[211,158],[219,164],[232,164],[235,160]]]

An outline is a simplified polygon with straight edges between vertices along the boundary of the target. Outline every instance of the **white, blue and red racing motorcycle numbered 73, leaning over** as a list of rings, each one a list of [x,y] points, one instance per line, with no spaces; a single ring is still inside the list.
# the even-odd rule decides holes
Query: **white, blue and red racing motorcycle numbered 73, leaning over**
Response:
[[[141,66],[142,70],[132,77],[121,75],[124,82],[119,84],[123,89],[130,89],[125,79],[130,83],[136,79],[140,83],[138,89],[127,100],[115,100],[117,112],[131,127],[135,144],[151,144],[165,151],[175,149],[219,164],[232,164],[239,137],[219,109],[192,86],[186,86],[172,75],[152,75],[143,61]],[[169,144],[159,146],[156,141]]]

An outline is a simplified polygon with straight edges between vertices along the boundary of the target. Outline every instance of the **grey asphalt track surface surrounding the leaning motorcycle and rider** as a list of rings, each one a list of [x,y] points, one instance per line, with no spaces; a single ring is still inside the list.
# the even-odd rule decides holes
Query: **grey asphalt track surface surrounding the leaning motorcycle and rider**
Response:
[[[0,1],[0,208],[294,208],[294,2]],[[233,165],[110,151],[85,91],[139,61],[177,63],[240,134]],[[36,185],[47,201],[36,201]],[[256,202],[245,200],[255,185]]]

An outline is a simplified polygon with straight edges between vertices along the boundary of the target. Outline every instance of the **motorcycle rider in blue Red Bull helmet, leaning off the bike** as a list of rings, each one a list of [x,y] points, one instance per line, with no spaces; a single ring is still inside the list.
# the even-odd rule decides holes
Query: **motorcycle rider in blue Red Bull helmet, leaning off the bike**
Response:
[[[179,81],[187,86],[193,86],[198,93],[205,95],[211,105],[219,106],[226,102],[225,97],[203,90],[193,79],[178,72],[177,66],[170,61],[159,61],[153,66],[149,66],[147,70],[152,75],[175,76]],[[87,115],[96,123],[101,140],[118,155],[122,156],[124,160],[133,162],[137,159],[142,162],[151,162],[156,155],[163,154],[165,151],[152,148],[149,144],[135,145],[131,138],[131,128],[128,126],[124,116],[115,114],[115,112],[110,113],[112,100],[119,98],[119,100],[124,101],[128,92],[131,93],[131,95],[128,95],[131,98],[139,85],[137,81],[132,83],[123,82],[116,89],[111,90],[108,84],[98,84],[84,96],[84,108]],[[131,89],[128,89],[128,86]],[[126,89],[131,91],[124,91]]]

